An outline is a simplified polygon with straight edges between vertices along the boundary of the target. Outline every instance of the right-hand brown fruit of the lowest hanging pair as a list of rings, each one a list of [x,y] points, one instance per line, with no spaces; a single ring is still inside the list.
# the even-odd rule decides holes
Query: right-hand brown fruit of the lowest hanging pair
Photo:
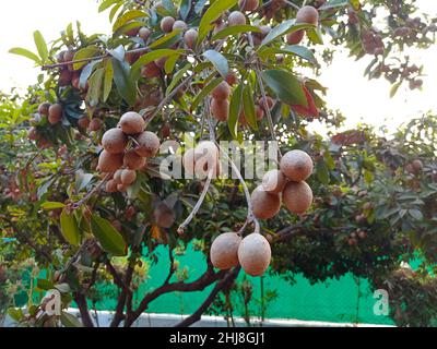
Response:
[[[238,261],[246,274],[261,276],[270,265],[272,250],[269,241],[253,232],[243,239],[238,248]]]

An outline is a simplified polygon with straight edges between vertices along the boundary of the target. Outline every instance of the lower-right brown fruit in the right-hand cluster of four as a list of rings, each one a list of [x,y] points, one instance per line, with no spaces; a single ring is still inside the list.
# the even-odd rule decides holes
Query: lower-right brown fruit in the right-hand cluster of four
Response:
[[[288,182],[282,193],[282,200],[291,213],[303,214],[311,206],[311,188],[304,181]]]

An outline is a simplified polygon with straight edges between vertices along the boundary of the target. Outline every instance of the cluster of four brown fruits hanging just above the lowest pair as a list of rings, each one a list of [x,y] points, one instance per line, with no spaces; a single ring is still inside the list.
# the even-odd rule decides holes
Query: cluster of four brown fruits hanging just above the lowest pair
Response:
[[[262,184],[251,194],[253,215],[260,219],[274,217],[283,201],[293,214],[305,213],[312,203],[312,191],[305,180],[312,172],[312,160],[303,151],[286,153],[280,170],[265,172]]]

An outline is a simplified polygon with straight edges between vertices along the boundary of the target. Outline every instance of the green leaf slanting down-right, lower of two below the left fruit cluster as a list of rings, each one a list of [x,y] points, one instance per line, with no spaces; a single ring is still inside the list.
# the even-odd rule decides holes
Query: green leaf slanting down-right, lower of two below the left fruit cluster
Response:
[[[106,252],[116,256],[122,256],[128,253],[128,246],[123,238],[105,218],[92,215],[91,231]]]

